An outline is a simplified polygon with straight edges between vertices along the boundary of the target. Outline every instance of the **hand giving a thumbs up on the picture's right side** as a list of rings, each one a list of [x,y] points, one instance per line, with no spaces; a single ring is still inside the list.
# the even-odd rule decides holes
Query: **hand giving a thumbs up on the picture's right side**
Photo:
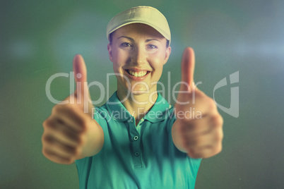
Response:
[[[182,84],[174,105],[177,120],[172,126],[172,140],[189,157],[208,158],[222,150],[223,118],[213,99],[194,84],[194,65],[194,50],[187,47],[182,56]]]

